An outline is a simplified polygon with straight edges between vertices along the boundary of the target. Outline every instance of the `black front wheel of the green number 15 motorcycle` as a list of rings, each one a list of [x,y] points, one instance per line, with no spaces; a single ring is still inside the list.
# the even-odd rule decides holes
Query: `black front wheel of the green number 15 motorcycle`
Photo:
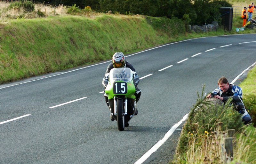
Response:
[[[117,120],[117,128],[119,131],[124,130],[124,103],[123,99],[117,99],[117,112],[116,112],[116,120]]]

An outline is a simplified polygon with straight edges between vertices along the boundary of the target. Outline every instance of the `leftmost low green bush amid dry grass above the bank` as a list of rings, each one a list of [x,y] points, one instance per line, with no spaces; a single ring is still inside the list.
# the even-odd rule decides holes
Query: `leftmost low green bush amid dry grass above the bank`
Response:
[[[15,1],[15,2],[11,2],[10,5],[8,6],[8,9],[16,9],[16,10],[20,10],[21,8],[23,8],[26,12],[31,12],[35,10],[35,5],[33,4],[33,2],[29,1],[29,0],[22,0],[22,1]]]

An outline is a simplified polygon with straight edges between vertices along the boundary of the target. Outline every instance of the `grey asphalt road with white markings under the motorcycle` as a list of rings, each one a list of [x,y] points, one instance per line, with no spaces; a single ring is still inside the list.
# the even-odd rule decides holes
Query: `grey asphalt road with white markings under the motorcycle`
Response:
[[[189,39],[125,54],[142,78],[123,132],[103,98],[110,61],[0,85],[0,163],[135,163],[196,102],[256,61],[256,34]],[[167,163],[180,127],[144,163]]]

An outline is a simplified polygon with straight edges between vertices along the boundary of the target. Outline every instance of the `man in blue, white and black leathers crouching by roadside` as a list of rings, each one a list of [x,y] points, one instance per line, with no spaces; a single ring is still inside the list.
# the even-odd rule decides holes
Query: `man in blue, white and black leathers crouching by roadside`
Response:
[[[244,124],[251,122],[251,116],[246,111],[242,98],[242,88],[236,86],[235,84],[229,84],[226,77],[222,76],[218,80],[219,88],[215,89],[206,96],[206,98],[211,98],[214,95],[214,98],[222,100],[224,103],[227,102],[229,97],[232,97],[232,103],[235,106],[236,111],[238,111],[242,116],[241,119],[244,121]]]

